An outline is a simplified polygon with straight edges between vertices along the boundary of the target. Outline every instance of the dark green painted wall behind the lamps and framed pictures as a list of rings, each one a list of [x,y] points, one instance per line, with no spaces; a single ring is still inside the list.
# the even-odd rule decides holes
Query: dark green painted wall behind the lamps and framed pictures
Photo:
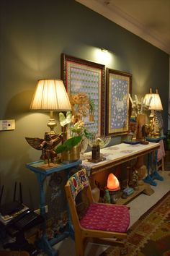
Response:
[[[21,181],[24,203],[38,206],[37,180],[24,165],[40,152],[24,137],[43,137],[48,129],[48,114],[30,113],[30,101],[38,79],[61,78],[62,52],[95,62],[96,48],[114,52],[107,67],[133,74],[133,95],[158,88],[167,129],[168,54],[73,0],[1,0],[0,19],[0,119],[16,121],[14,131],[0,132],[5,200]]]

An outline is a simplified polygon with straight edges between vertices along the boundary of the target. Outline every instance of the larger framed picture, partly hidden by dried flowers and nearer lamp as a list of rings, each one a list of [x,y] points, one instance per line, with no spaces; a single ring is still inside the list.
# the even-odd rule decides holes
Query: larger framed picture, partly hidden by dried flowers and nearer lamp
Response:
[[[89,111],[84,119],[86,128],[95,135],[104,135],[105,66],[66,54],[62,54],[61,59],[62,80],[67,92],[71,95],[86,93],[93,106],[93,118]]]

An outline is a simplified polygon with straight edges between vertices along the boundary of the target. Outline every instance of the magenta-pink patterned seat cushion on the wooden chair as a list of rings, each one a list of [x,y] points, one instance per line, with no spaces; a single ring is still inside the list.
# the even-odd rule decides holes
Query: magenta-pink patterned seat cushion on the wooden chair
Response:
[[[80,223],[84,229],[125,233],[130,224],[130,213],[126,206],[92,203]]]

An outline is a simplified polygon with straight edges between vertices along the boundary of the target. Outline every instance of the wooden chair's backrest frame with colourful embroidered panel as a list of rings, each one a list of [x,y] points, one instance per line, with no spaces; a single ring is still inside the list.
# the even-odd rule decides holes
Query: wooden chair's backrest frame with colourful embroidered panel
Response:
[[[76,196],[86,188],[86,197],[88,197],[89,203],[93,202],[93,197],[91,195],[91,187],[89,184],[89,178],[86,174],[86,169],[81,169],[80,171],[73,174],[65,185],[66,197],[68,200],[68,205],[71,212],[71,218],[73,221],[74,228],[80,229],[79,216],[76,210]]]

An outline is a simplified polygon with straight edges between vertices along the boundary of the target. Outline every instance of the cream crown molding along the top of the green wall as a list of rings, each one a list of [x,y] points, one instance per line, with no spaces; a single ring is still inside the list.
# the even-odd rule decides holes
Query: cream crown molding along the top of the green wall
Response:
[[[76,0],[80,4],[84,4],[89,7],[94,12],[101,14],[107,19],[115,22],[117,25],[124,27],[131,33],[138,35],[143,40],[151,43],[153,46],[165,51],[166,54],[170,55],[170,46],[167,46],[164,41],[161,40],[160,36],[156,34],[153,30],[147,30],[138,20],[135,20],[126,12],[116,7],[114,4],[109,4],[109,1],[99,1],[99,0]]]

